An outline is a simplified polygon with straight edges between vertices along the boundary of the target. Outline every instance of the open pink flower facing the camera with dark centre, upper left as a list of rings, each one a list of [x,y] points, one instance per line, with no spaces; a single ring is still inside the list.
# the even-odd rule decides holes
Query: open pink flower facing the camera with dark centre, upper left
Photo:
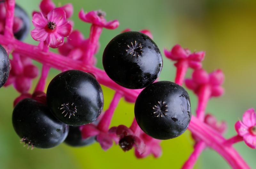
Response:
[[[57,48],[64,43],[64,37],[67,37],[72,26],[66,20],[66,13],[62,8],[55,8],[47,14],[43,13],[33,15],[32,23],[35,29],[31,31],[31,36],[37,41],[45,41],[52,48]]]

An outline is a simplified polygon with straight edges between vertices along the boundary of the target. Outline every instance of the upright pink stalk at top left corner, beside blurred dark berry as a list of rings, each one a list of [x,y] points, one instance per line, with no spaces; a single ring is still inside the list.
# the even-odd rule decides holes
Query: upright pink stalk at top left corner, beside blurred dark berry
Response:
[[[14,20],[14,10],[15,10],[15,0],[6,0],[6,18],[5,18],[5,27],[4,27],[4,36],[13,38],[13,20]]]

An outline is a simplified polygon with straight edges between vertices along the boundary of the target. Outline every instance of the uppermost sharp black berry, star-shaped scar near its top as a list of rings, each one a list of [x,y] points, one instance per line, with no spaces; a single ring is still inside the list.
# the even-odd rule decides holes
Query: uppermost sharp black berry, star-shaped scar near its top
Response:
[[[153,83],[163,67],[155,42],[140,32],[124,32],[113,38],[104,50],[102,62],[113,81],[131,89]]]

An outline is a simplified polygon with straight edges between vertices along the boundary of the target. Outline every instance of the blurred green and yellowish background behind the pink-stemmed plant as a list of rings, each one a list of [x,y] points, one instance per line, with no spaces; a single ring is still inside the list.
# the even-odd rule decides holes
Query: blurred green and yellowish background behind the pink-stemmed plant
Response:
[[[16,0],[29,14],[38,10],[39,0]],[[54,0],[63,5],[70,0]],[[97,67],[102,68],[101,56],[104,46],[125,28],[134,31],[149,29],[154,41],[163,53],[164,47],[171,49],[175,44],[191,51],[206,51],[204,68],[213,71],[221,68],[226,75],[226,93],[209,102],[207,112],[228,123],[225,137],[236,134],[234,124],[242,118],[243,112],[256,105],[256,1],[254,0],[72,0],[74,5],[75,29],[89,35],[90,25],[77,17],[81,8],[85,11],[101,9],[106,11],[107,20],[118,19],[116,30],[104,30],[100,37],[101,48],[97,54]],[[26,42],[37,44],[29,36]],[[39,65],[39,64],[38,64]],[[40,65],[39,65],[40,66]],[[41,66],[40,66],[41,67]],[[51,70],[48,82],[59,71]],[[191,71],[189,71],[188,77]],[[164,58],[164,68],[160,80],[173,81],[175,67]],[[37,81],[37,80],[36,80]],[[34,86],[36,81],[34,81]],[[31,90],[32,91],[32,90]],[[108,108],[114,91],[104,87],[105,105]],[[19,137],[12,128],[12,102],[18,96],[13,87],[0,89],[0,168],[1,169],[98,169],[98,168],[180,168],[193,151],[190,132],[161,143],[163,155],[155,159],[136,159],[133,150],[123,152],[114,145],[103,151],[99,144],[83,148],[72,148],[65,144],[52,149],[27,150],[19,143]],[[192,110],[197,99],[190,92]],[[130,125],[133,119],[133,104],[121,100],[111,126]],[[29,129],[28,129],[29,130]],[[248,164],[255,168],[256,150],[244,143],[235,145]],[[229,168],[215,151],[207,149],[202,153],[195,168]]]

